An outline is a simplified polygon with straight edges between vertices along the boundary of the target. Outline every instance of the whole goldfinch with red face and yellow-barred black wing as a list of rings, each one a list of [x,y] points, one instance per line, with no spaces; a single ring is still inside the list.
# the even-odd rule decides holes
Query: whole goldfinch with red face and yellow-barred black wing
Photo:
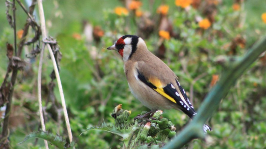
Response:
[[[125,35],[107,48],[116,50],[124,61],[124,72],[130,91],[151,109],[148,114],[163,109],[180,109],[190,118],[197,113],[174,72],[147,49],[142,38]],[[211,131],[208,125],[203,131]]]

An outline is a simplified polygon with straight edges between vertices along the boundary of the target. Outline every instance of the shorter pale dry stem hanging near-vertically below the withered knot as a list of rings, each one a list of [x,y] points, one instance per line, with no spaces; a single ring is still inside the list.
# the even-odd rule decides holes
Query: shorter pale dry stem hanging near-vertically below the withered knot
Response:
[[[41,79],[42,79],[42,66],[43,66],[43,51],[44,51],[45,44],[43,44],[43,48],[41,49],[41,54],[40,54],[40,61],[39,61],[39,69],[38,69],[38,81],[37,81],[37,86],[38,86],[38,102],[39,102],[39,112],[40,112],[40,120],[41,120],[41,125],[42,125],[42,130],[45,130],[45,125],[44,125],[44,119],[43,119],[43,106],[42,106],[42,93],[41,93]],[[47,140],[44,140],[45,148],[49,149]]]

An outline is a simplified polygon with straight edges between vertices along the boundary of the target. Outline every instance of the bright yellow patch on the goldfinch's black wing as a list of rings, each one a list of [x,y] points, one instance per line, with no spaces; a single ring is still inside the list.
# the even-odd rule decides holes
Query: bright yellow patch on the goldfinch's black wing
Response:
[[[169,99],[173,103],[176,103],[176,100],[174,100],[172,97],[170,97],[168,94],[164,92],[163,84],[157,77],[149,77],[149,82],[152,83],[157,89],[154,89],[159,94],[163,95],[165,98]]]

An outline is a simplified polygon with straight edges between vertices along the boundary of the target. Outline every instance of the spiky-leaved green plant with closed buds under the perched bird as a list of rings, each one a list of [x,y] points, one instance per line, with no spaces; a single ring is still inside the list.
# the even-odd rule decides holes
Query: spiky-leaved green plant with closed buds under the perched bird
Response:
[[[142,111],[145,114],[147,111]],[[123,110],[122,104],[117,105],[111,116],[114,124],[105,122],[100,126],[93,126],[88,130],[102,130],[121,137],[125,148],[160,148],[169,139],[176,136],[176,128],[166,118],[162,118],[163,111],[156,111],[149,119],[138,119],[135,122],[129,119],[131,111]],[[86,130],[86,131],[88,131]]]

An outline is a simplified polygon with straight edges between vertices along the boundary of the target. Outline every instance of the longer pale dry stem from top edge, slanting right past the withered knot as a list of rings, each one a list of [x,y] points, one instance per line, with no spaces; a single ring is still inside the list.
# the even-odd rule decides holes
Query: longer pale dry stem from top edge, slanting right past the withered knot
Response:
[[[45,17],[44,17],[42,0],[38,0],[38,6],[39,6],[39,15],[40,15],[40,21],[41,21],[41,30],[42,30],[43,40],[46,40],[47,34],[46,34]],[[70,124],[69,124],[69,118],[68,118],[68,114],[67,114],[67,107],[66,107],[66,103],[65,103],[63,88],[62,88],[62,84],[61,84],[61,79],[60,79],[60,76],[59,76],[58,67],[57,67],[57,63],[56,63],[52,48],[51,48],[51,46],[49,44],[47,44],[47,47],[48,47],[48,50],[49,50],[49,53],[50,53],[50,57],[51,57],[52,62],[53,62],[54,71],[55,71],[55,75],[56,75],[56,80],[57,80],[58,88],[59,88],[59,92],[60,92],[63,112],[64,112],[65,121],[66,121],[66,125],[67,125],[67,132],[68,132],[68,136],[69,136],[69,142],[71,143],[72,142],[72,132],[71,132]]]

